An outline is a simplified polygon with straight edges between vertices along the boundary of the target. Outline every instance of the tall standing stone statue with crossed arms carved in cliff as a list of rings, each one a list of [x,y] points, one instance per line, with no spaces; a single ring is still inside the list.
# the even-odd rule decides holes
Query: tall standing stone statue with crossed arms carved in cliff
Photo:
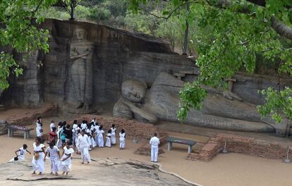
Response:
[[[70,58],[73,60],[71,75],[73,92],[78,100],[75,109],[88,111],[92,104],[92,43],[87,40],[83,28],[76,28],[76,39],[71,43]]]

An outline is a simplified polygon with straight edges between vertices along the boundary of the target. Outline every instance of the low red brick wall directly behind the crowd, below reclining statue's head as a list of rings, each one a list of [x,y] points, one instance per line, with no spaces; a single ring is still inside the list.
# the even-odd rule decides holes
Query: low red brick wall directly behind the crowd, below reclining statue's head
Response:
[[[89,114],[80,116],[79,118],[76,118],[76,120],[78,120],[78,123],[81,123],[83,120],[87,120],[88,122],[90,122],[92,118],[96,118],[97,123],[104,126],[104,131],[109,130],[111,128],[111,125],[114,124],[116,125],[118,132],[121,129],[125,130],[127,137],[135,137],[140,140],[147,140],[147,142],[143,143],[142,146],[135,151],[136,154],[150,155],[151,149],[149,145],[149,140],[153,136],[154,132],[157,132],[160,140],[160,146],[166,143],[166,132],[159,130],[155,125],[140,123],[137,120],[128,120],[125,118],[114,118],[109,116],[97,116]],[[73,123],[73,121],[71,121],[71,123]],[[163,153],[162,150],[160,150],[159,152]]]

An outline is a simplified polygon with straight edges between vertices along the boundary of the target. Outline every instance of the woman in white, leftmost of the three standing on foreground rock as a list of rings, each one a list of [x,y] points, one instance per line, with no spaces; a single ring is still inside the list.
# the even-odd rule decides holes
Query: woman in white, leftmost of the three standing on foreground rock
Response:
[[[35,139],[35,143],[33,143],[34,156],[32,158],[32,174],[35,174],[35,171],[39,171],[39,175],[44,173],[44,148],[46,147],[44,147],[44,144],[41,142],[42,139],[37,137]]]

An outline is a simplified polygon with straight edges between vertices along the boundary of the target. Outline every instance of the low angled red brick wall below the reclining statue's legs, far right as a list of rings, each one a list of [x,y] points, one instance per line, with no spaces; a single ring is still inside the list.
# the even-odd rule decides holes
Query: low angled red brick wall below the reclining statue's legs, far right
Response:
[[[190,160],[211,161],[224,147],[226,141],[226,150],[247,154],[251,156],[262,157],[266,159],[286,158],[287,147],[283,147],[276,142],[267,142],[257,140],[253,137],[242,137],[238,135],[217,134],[209,139],[202,149],[197,153],[188,154]],[[291,158],[291,154],[289,154]]]

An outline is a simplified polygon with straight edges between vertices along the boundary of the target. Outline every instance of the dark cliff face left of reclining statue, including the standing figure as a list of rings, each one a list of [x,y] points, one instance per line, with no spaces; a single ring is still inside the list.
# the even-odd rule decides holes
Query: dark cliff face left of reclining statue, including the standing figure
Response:
[[[192,60],[174,54],[169,44],[148,35],[78,21],[46,20],[42,27],[51,33],[50,51],[45,55],[37,52],[23,63],[23,75],[11,79],[1,97],[7,105],[42,106],[54,101],[63,111],[70,107],[70,112],[85,113],[86,109],[75,110],[118,101],[126,80],[152,85],[162,71],[195,66]],[[86,37],[78,39],[78,30],[86,30]],[[84,56],[78,58],[75,50]],[[39,61],[42,66],[37,66]],[[90,73],[85,77],[82,70]]]

